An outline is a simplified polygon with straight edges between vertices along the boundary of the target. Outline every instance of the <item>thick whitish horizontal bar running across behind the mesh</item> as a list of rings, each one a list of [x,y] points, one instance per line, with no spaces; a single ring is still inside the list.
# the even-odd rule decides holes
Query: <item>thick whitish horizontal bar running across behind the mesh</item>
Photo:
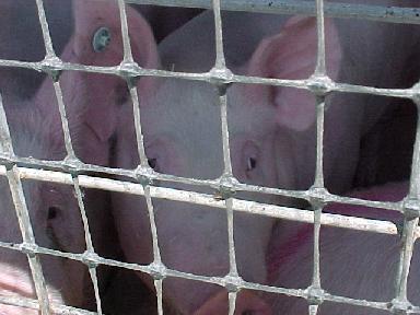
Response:
[[[0,166],[0,175],[5,174],[5,167]],[[21,178],[31,178],[37,180],[47,180],[49,183],[60,183],[66,185],[72,185],[72,178],[70,174],[60,172],[34,170],[26,167],[19,167],[19,174]],[[144,195],[142,185],[127,183],[116,179],[100,178],[86,175],[80,175],[79,184],[81,187],[104,189],[116,192],[126,192],[132,195]],[[165,187],[150,187],[150,194],[153,198],[167,199],[180,202],[190,202],[200,206],[213,207],[225,210],[225,202],[223,200],[214,199],[214,196],[207,194],[199,194],[195,191],[185,191]],[[341,201],[339,196],[335,196],[335,201]],[[342,198],[343,201],[350,198]],[[370,201],[362,200],[363,206],[369,206]],[[374,202],[378,205],[380,202]],[[380,205],[401,205],[399,202],[382,202]],[[397,206],[395,206],[397,207]],[[310,210],[294,209],[289,207],[281,207],[275,205],[259,203],[256,201],[248,201],[242,199],[233,199],[233,210],[242,211],[246,213],[267,215],[271,218],[313,223],[314,212]],[[320,223],[329,226],[352,229],[366,232],[376,232],[383,234],[398,234],[397,226],[388,221],[370,220],[357,217],[347,217],[339,214],[323,213]],[[420,236],[420,228],[416,230],[416,237]]]

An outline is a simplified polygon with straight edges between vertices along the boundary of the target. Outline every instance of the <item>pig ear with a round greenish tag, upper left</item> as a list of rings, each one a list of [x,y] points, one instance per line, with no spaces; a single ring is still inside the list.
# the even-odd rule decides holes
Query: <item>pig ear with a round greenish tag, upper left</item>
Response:
[[[71,49],[66,50],[62,59],[83,65],[117,66],[122,61],[122,35],[119,10],[116,1],[74,1],[74,35],[69,43]],[[135,61],[143,68],[159,67],[158,48],[153,33],[135,9],[126,5],[127,23]],[[103,32],[103,33],[101,33]],[[102,39],[101,39],[102,38]],[[69,60],[66,60],[69,59]],[[107,140],[116,127],[116,102],[110,95],[121,94],[124,82],[116,75],[104,80],[89,80],[95,75],[85,75],[86,91],[95,95],[85,110],[86,117],[92,117],[88,125],[102,140]],[[96,75],[97,77],[97,75]],[[106,75],[108,77],[108,75]],[[154,80],[142,78],[139,80],[139,96],[147,97],[154,90]],[[122,92],[127,93],[127,92]],[[118,97],[117,97],[118,98]],[[119,97],[121,100],[124,97]]]

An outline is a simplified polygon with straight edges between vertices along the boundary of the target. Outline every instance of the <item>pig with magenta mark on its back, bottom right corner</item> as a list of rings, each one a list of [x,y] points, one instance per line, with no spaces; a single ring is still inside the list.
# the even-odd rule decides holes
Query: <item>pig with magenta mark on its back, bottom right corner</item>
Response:
[[[408,191],[407,182],[388,183],[353,192],[351,196],[381,201],[399,201]],[[343,215],[365,217],[375,220],[402,222],[401,215],[383,209],[349,205],[330,205],[325,211]],[[330,294],[368,301],[390,302],[396,296],[397,275],[401,241],[398,235],[384,235],[354,230],[320,228],[320,285]],[[313,228],[311,224],[295,230],[288,242],[273,253],[277,267],[273,284],[285,288],[306,288],[311,283],[313,268]],[[420,303],[419,248],[415,244],[408,279],[408,300]],[[271,260],[271,264],[275,259]],[[308,314],[303,299],[278,295],[272,304],[276,314]],[[387,314],[385,311],[324,302],[317,314]]]

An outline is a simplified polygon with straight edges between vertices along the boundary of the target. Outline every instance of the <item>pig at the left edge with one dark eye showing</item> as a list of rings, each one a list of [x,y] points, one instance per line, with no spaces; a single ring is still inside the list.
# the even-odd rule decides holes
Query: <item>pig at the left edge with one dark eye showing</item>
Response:
[[[40,115],[36,105],[8,110],[12,143],[18,156],[58,160],[65,155],[57,131],[60,122]],[[85,249],[83,225],[79,206],[71,186],[22,180],[25,200],[39,246],[83,253]],[[0,178],[0,240],[21,243],[22,236],[14,212],[12,196],[4,176]],[[0,294],[5,296],[35,298],[34,285],[26,255],[5,248],[0,249]],[[90,278],[86,267],[78,261],[40,256],[43,271],[51,303],[83,307]],[[38,314],[23,307],[0,304],[0,314]]]

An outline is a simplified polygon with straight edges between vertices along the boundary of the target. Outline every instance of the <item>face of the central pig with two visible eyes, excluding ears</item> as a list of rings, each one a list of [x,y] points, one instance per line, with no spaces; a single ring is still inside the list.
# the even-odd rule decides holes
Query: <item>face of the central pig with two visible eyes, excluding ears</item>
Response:
[[[196,178],[221,176],[222,139],[215,91],[211,86],[188,81],[165,80],[161,84],[156,98],[153,98],[154,103],[144,104],[141,108],[149,164],[155,171],[166,174]],[[174,93],[176,91],[179,92]],[[192,92],[192,95],[188,92]],[[176,106],[168,106],[166,93],[174,95],[171,102]],[[213,102],[209,103],[209,100]],[[240,104],[232,104],[229,110],[237,113],[235,106],[240,107]],[[276,186],[279,182],[278,174],[272,171],[276,168],[272,154],[278,145],[275,141],[275,124],[267,127],[269,124],[259,126],[258,121],[250,121],[244,126],[238,121],[245,115],[254,115],[264,121],[275,114],[270,107],[267,110],[256,109],[257,106],[246,114],[238,113],[237,117],[230,115],[233,173],[245,183]],[[139,160],[132,116],[121,118],[121,129],[118,129],[121,132],[117,132],[116,138],[117,165],[135,168]],[[159,121],[159,127],[154,121]],[[249,133],[253,128],[257,131]],[[174,186],[179,187],[171,185]],[[118,194],[113,196],[113,202],[127,259],[150,262],[151,240],[145,203],[135,197]],[[228,225],[223,210],[165,200],[153,200],[153,206],[162,259],[168,268],[206,276],[224,276],[229,272]],[[136,209],[135,212],[132,209]],[[264,282],[265,250],[271,224],[272,220],[267,218],[235,214],[237,261],[240,273],[246,280]],[[248,246],[254,248],[253,259],[247,255]],[[195,282],[168,279],[164,287],[165,298],[185,314],[191,314],[219,291],[212,287],[191,289],[195,285]]]

